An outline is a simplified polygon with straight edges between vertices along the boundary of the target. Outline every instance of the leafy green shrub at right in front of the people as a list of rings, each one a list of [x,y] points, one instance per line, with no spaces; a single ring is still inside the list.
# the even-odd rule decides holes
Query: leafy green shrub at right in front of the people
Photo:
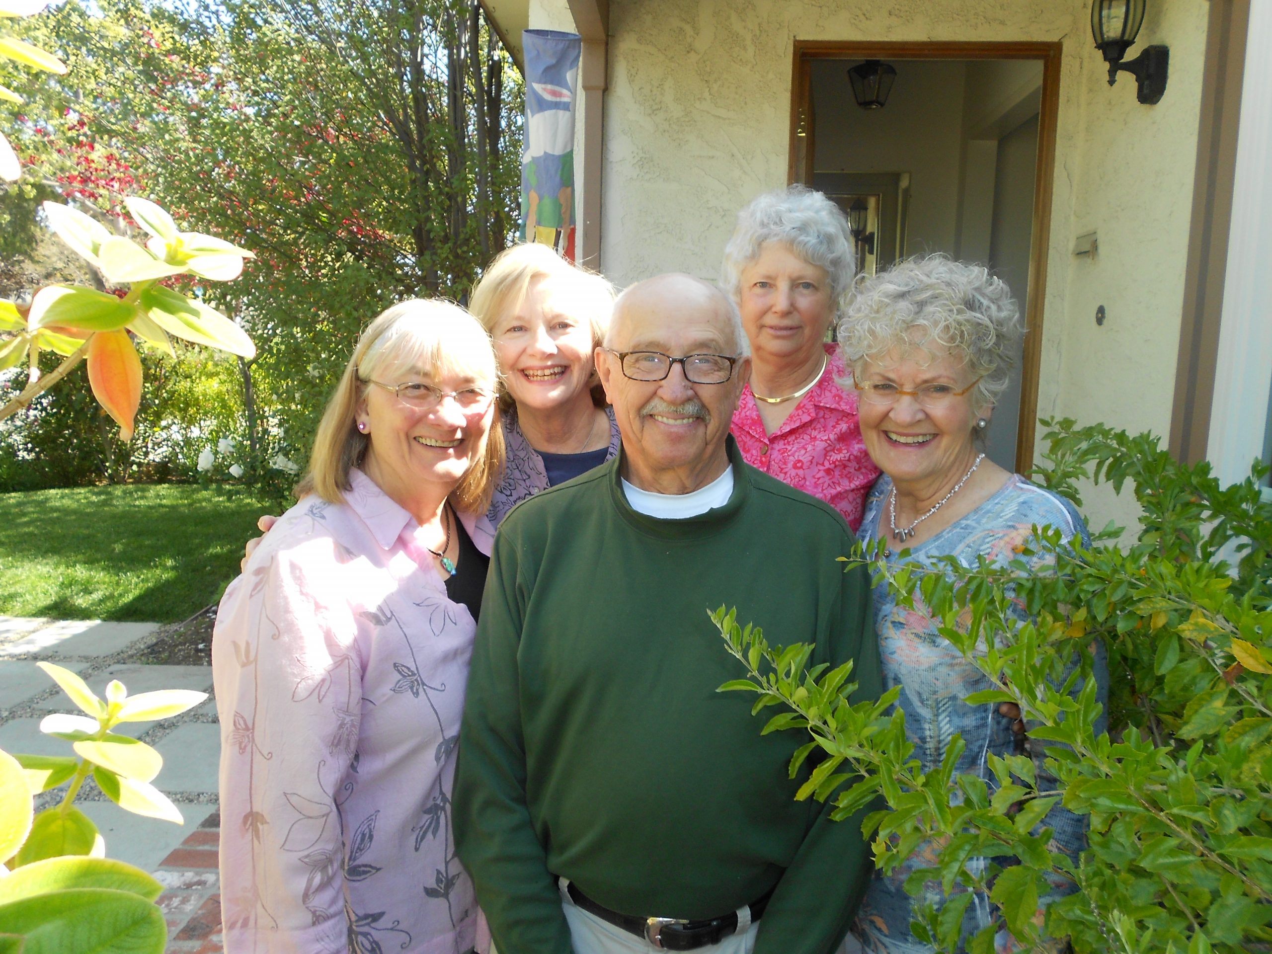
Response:
[[[976,894],[996,906],[997,921],[964,939],[973,954],[992,951],[1002,927],[1038,950],[1065,940],[1076,951],[1126,954],[1272,950],[1266,471],[1255,464],[1249,480],[1222,487],[1208,464],[1178,464],[1151,435],[1068,420],[1047,441],[1048,466],[1035,477],[1079,505],[1079,482],[1088,477],[1118,492],[1133,488],[1144,511],[1136,542],[1113,543],[1121,530],[1110,527],[1088,548],[1035,528],[1030,546],[1056,566],[1040,576],[1024,560],[890,570],[879,553],[859,550],[847,561],[869,563],[903,605],[921,599],[939,632],[992,681],[995,688],[969,703],[1020,706],[1032,743],[1047,745],[1054,790],[1039,787],[1024,756],[991,757],[993,792],[974,776],[955,777],[957,736],[944,764],[921,772],[904,714],[889,710],[899,689],[878,703],[850,705],[851,667],[806,672],[806,646],[770,646],[722,607],[712,618],[748,678],[721,688],[759,693],[757,711],[789,710],[764,731],[812,734],[795,753],[792,775],[813,749],[824,750],[800,798],[833,796],[837,818],[881,799],[864,831],[883,870],[939,840],[939,866],[916,873],[907,890],[918,893],[922,881],[940,881],[946,894],[954,885],[968,889],[943,911],[926,907],[913,923],[941,950],[958,949],[962,912]],[[1020,622],[1013,599],[1035,619]],[[1076,683],[1058,682],[1074,663],[1079,677],[1090,674],[1093,637],[1108,649],[1112,682],[1109,730],[1099,735],[1094,681],[1076,698],[1065,691]],[[854,784],[841,790],[847,781]],[[1049,831],[1039,828],[1056,799],[1090,818],[1090,846],[1076,865],[1049,851]],[[1037,925],[1048,876],[1077,890]]]

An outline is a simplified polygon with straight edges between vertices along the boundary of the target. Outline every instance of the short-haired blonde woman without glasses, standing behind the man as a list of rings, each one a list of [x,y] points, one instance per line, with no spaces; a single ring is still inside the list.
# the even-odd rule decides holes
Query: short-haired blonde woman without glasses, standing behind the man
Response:
[[[547,245],[500,253],[473,287],[469,309],[495,341],[502,371],[508,463],[490,518],[618,453],[593,354],[609,327],[608,281]]]

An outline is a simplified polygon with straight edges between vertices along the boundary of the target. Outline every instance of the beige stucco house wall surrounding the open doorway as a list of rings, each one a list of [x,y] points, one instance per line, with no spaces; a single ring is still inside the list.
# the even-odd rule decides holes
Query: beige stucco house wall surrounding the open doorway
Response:
[[[1039,413],[1165,435],[1207,8],[1151,5],[1131,52],[1169,45],[1170,81],[1150,107],[1128,75],[1108,88],[1089,0],[611,0],[602,267],[716,276],[738,209],[786,182],[796,38],[1061,41]],[[1099,258],[1075,258],[1091,230]]]

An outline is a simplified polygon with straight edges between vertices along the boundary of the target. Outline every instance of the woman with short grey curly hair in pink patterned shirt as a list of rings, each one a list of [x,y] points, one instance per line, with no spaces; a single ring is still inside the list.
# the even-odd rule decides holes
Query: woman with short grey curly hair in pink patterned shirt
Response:
[[[857,424],[857,398],[837,345],[826,343],[855,276],[838,206],[791,186],[738,215],[721,286],[742,310],[750,383],[733,416],[748,464],[824,500],[856,530],[879,468]]]

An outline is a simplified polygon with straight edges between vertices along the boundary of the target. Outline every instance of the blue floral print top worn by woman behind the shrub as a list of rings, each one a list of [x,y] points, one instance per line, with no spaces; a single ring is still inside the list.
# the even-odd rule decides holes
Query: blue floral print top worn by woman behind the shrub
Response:
[[[860,541],[869,543],[878,538],[879,516],[887,506],[890,492],[892,480],[887,476],[880,477],[866,499],[865,516],[857,532]],[[954,556],[967,566],[974,566],[978,557],[985,557],[990,563],[1005,565],[1019,557],[1018,548],[1028,542],[1034,525],[1048,524],[1058,528],[1066,539],[1079,536],[1084,543],[1090,542],[1086,525],[1072,504],[1019,474],[1013,474],[992,497],[971,514],[931,539],[911,547],[906,561],[930,565],[935,557]],[[1035,567],[1043,569],[1046,557],[1038,556],[1037,561]],[[890,553],[888,562],[895,566],[902,561],[897,553]],[[999,712],[997,703],[969,706],[963,701],[973,692],[992,688],[990,681],[936,632],[918,598],[916,609],[897,605],[887,585],[880,584],[874,590],[874,605],[884,688],[901,686],[901,698],[897,705],[906,714],[906,731],[915,744],[915,756],[922,761],[922,771],[927,772],[940,766],[946,747],[954,734],[959,733],[967,748],[959,759],[957,772],[981,776],[993,792],[997,781],[988,768],[988,757],[1016,754],[1018,745],[1024,743],[1023,740],[1018,743],[1011,730],[1011,720]],[[1025,618],[1024,608],[1020,608],[1020,614]],[[1095,675],[1099,681],[1098,698],[1104,706],[1108,695],[1104,650],[1103,646],[1093,649]],[[1096,733],[1099,731],[1103,731],[1103,724],[1096,726]],[[1043,780],[1051,776],[1043,770],[1042,747],[1037,749],[1033,757],[1038,778],[1046,784]],[[1077,852],[1086,845],[1085,819],[1058,804],[1047,814],[1040,827],[1053,829],[1051,847],[1054,851],[1063,851],[1076,859]],[[941,845],[925,842],[890,875],[875,873],[854,927],[854,934],[868,951],[929,954],[934,950],[911,934],[909,922],[913,918],[913,909],[923,902],[940,907],[944,899],[940,883],[929,881],[923,892],[915,898],[906,894],[903,885],[916,869],[936,866],[940,855]],[[955,888],[955,892],[960,890],[964,889]],[[1068,881],[1054,883],[1051,892],[1039,901],[1038,917],[1042,917],[1047,904],[1071,890],[1074,887]],[[963,921],[964,940],[990,923],[992,915],[983,897],[974,899]],[[1020,946],[1010,935],[1000,931],[996,943],[1000,954],[1019,950]]]

